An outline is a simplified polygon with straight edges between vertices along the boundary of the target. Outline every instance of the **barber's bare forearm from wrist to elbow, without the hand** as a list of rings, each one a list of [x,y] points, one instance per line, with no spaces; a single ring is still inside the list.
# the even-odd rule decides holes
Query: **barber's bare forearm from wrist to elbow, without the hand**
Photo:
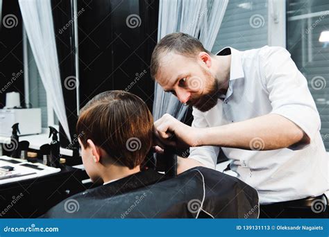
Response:
[[[278,114],[267,114],[215,128],[204,128],[202,146],[221,146],[246,150],[274,150],[295,143],[309,143],[295,123]]]

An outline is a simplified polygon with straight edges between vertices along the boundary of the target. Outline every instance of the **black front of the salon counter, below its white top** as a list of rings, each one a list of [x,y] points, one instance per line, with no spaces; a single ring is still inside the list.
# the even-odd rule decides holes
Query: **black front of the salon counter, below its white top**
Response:
[[[0,185],[0,218],[37,218],[58,202],[85,190],[85,173],[62,166],[59,173]]]

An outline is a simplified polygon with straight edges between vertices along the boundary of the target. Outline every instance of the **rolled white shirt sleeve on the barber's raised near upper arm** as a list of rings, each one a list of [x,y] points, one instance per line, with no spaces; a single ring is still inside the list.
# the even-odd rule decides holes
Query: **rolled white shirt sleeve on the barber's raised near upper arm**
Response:
[[[320,130],[319,112],[307,80],[281,47],[264,47],[260,53],[262,85],[269,93],[273,114],[280,114],[298,125],[310,139]],[[291,147],[301,149],[302,147]]]

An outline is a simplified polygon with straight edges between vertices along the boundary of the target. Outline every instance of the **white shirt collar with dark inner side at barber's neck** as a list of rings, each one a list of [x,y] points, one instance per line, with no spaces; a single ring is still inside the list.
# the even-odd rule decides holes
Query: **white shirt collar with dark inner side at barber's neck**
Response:
[[[244,78],[244,69],[242,68],[241,52],[231,47],[221,49],[216,55],[231,55],[230,60],[230,80]]]

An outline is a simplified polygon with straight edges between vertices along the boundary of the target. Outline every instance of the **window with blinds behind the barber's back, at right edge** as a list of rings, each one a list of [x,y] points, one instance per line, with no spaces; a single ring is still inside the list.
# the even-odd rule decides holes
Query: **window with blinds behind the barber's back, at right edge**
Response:
[[[307,78],[329,151],[329,2],[287,1],[287,50]]]

